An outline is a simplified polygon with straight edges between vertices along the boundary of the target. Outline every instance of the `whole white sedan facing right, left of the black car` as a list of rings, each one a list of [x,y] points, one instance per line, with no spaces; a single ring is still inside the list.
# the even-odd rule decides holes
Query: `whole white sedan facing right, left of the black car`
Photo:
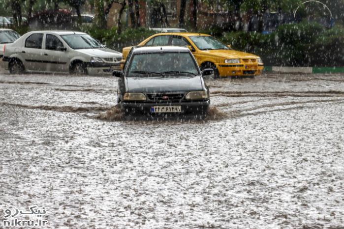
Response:
[[[121,53],[74,31],[28,32],[3,50],[2,65],[10,73],[111,74],[122,59]]]

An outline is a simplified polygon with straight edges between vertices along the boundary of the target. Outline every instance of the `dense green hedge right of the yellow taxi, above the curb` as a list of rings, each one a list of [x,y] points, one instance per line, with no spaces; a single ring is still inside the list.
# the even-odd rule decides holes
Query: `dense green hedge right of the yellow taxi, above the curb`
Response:
[[[344,66],[344,29],[316,23],[280,26],[275,32],[229,32],[219,37],[233,49],[254,53],[270,66]]]

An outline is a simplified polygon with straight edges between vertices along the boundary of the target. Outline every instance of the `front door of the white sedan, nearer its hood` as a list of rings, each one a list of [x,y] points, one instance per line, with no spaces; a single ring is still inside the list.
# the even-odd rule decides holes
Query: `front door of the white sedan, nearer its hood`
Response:
[[[66,72],[68,71],[68,55],[63,42],[59,37],[47,33],[45,36],[45,49],[43,61],[45,71],[48,72]]]

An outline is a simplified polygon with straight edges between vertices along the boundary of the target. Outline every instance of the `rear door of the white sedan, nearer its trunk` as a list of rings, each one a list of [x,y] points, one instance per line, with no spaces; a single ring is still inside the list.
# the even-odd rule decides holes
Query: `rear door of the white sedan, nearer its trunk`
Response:
[[[32,33],[25,39],[20,56],[24,59],[25,68],[29,71],[43,71],[43,33]]]

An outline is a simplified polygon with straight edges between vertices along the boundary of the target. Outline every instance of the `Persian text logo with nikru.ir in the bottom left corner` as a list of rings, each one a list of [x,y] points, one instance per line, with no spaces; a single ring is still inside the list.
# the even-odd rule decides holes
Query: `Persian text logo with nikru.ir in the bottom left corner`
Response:
[[[5,220],[2,220],[2,226],[3,227],[44,227],[47,224],[46,220],[42,220],[42,217],[45,215],[45,207],[42,207],[42,209],[37,209],[37,206],[31,206],[29,208],[29,211],[22,211],[15,209],[13,212],[11,209],[7,208],[4,210],[5,215],[3,218]],[[20,220],[17,219],[18,215],[20,216],[31,216],[36,217],[34,220]]]

